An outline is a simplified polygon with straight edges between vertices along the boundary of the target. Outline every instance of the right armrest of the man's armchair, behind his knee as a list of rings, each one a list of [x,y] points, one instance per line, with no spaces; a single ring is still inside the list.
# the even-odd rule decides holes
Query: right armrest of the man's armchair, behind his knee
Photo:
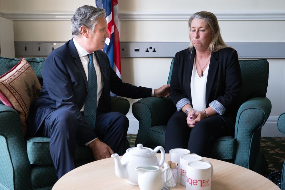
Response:
[[[130,110],[130,102],[121,97],[111,97],[111,111],[126,115]]]

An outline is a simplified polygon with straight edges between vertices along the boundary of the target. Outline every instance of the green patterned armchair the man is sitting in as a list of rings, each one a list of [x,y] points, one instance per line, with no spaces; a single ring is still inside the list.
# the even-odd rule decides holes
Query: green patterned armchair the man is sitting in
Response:
[[[43,58],[26,58],[42,84]],[[0,75],[20,59],[0,57]],[[0,101],[1,102],[1,101]],[[127,114],[129,101],[112,97],[112,111]],[[28,126],[29,127],[29,126]],[[126,148],[129,143],[126,140]],[[24,137],[19,114],[0,104],[0,189],[49,190],[58,180],[49,150],[49,138]],[[90,148],[76,147],[76,167],[94,161]]]

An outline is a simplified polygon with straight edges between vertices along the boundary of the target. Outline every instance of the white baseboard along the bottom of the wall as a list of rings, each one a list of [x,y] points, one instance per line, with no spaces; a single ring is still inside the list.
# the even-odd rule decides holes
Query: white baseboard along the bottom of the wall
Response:
[[[129,119],[128,134],[137,134],[137,131],[139,130],[139,121],[131,113],[127,114],[126,116]],[[277,129],[277,120],[278,116],[269,116],[265,125],[262,127],[262,137],[285,137]]]

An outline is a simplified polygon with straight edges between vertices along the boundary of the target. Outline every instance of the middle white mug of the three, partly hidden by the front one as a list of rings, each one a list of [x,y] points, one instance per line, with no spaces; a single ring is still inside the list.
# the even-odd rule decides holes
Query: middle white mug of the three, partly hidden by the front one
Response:
[[[197,154],[185,154],[180,156],[180,184],[186,186],[187,164],[194,161],[202,161],[203,158]]]

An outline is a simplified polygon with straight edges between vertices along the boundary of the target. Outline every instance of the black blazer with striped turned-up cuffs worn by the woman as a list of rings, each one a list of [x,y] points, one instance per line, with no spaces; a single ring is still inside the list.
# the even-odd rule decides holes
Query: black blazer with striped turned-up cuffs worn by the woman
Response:
[[[175,105],[183,98],[192,102],[190,81],[195,53],[193,47],[192,53],[189,49],[185,49],[175,55],[170,82],[170,96]],[[223,115],[235,119],[241,85],[240,64],[236,50],[224,48],[212,52],[206,85],[206,107],[209,107],[209,103],[213,100],[217,100],[226,108]]]

